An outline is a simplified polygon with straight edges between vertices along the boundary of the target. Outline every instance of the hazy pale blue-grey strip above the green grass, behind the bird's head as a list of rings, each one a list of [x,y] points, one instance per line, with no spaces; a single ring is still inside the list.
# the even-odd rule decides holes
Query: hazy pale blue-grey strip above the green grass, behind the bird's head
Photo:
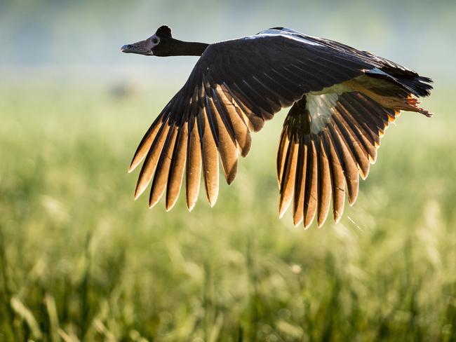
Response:
[[[456,77],[453,1],[2,1],[0,72],[6,81],[187,79],[196,57],[124,55],[120,47],[169,25],[173,36],[213,43],[284,26],[369,50],[447,86]],[[210,9],[209,9],[210,6]],[[242,10],[241,10],[242,8]],[[178,9],[178,11],[176,11]]]

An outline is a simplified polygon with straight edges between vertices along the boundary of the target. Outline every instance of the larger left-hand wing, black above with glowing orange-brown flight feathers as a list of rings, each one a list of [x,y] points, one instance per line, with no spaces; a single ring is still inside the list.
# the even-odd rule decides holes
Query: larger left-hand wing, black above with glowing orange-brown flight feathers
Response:
[[[196,63],[185,86],[147,130],[130,170],[144,164],[135,197],[152,182],[149,206],[166,191],[173,207],[185,174],[187,206],[199,194],[201,173],[210,205],[218,193],[218,158],[228,183],[239,153],[250,149],[250,132],[282,107],[382,67],[368,55],[280,30],[215,43]]]

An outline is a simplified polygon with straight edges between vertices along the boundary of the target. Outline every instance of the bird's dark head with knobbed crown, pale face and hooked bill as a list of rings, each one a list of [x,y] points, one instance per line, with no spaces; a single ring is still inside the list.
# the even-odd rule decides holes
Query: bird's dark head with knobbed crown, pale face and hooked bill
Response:
[[[123,53],[137,53],[138,55],[147,56],[168,56],[168,48],[173,40],[171,29],[163,25],[159,27],[153,36],[150,36],[145,41],[131,43],[122,46]]]

